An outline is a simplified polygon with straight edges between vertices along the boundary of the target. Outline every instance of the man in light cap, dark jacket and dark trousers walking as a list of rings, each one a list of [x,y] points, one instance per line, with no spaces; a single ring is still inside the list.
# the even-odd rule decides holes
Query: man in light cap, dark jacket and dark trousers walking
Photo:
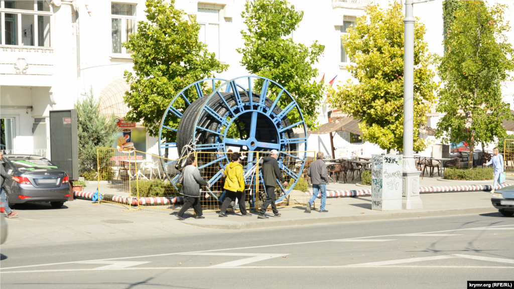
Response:
[[[287,186],[287,182],[280,173],[279,162],[277,161],[278,156],[279,152],[277,150],[272,150],[270,155],[265,157],[262,162],[262,176],[264,178],[264,186],[266,188],[266,201],[262,204],[259,215],[257,216],[259,219],[268,219],[268,216],[265,213],[270,204],[273,209],[273,216],[275,218],[280,216],[280,213],[277,210],[277,205],[275,204],[275,187],[278,185],[277,178],[281,183],[283,183],[284,187]]]

